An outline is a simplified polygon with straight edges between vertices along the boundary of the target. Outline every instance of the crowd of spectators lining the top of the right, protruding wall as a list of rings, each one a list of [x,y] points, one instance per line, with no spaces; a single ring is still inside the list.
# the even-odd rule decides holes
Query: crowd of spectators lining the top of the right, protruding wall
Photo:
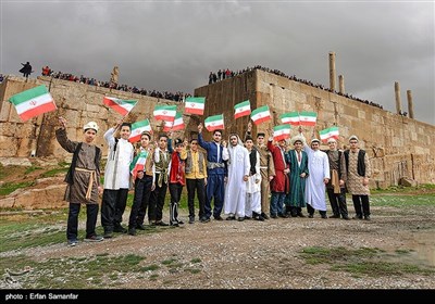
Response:
[[[256,65],[253,67],[246,67],[246,68],[239,69],[237,72],[231,71],[228,68],[219,69],[217,73],[210,72],[210,74],[209,74],[209,85],[210,84],[214,84],[214,83],[220,81],[220,80],[224,80],[226,78],[231,78],[231,77],[244,74],[246,72],[251,72],[253,69],[261,69],[261,71],[264,71],[264,72],[268,72],[268,73],[271,73],[271,74],[278,75],[281,77],[288,78],[290,80],[295,80],[295,81],[299,81],[299,83],[306,84],[306,85],[311,86],[311,87],[315,87],[315,88],[319,88],[319,89],[322,89],[322,90],[325,90],[325,91],[334,92],[336,94],[339,94],[339,96],[343,96],[343,97],[346,97],[346,98],[349,98],[349,99],[352,99],[352,100],[357,100],[359,102],[362,102],[362,103],[365,103],[365,104],[369,104],[369,105],[372,105],[372,106],[384,109],[381,104],[377,104],[377,103],[375,103],[373,101],[362,100],[362,99],[359,99],[357,97],[353,97],[352,94],[337,92],[335,90],[325,88],[323,85],[314,84],[314,83],[312,83],[310,80],[307,80],[307,79],[297,78],[295,75],[287,76],[285,73],[281,72],[279,69],[272,69],[272,68],[269,68],[269,67],[263,67],[261,65]]]

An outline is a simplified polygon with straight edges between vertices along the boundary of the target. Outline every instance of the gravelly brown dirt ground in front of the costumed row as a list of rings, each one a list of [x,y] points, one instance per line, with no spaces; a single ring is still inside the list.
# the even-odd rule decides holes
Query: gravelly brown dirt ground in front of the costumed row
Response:
[[[353,215],[351,202],[348,207]],[[123,224],[127,218],[125,214]],[[186,211],[181,218],[186,224],[179,228],[150,228],[157,233],[117,233],[99,243],[83,242],[79,236],[75,248],[62,243],[20,253],[36,261],[136,254],[145,256],[147,265],[167,261],[178,265],[158,267],[141,277],[123,275],[116,284],[108,284],[110,289],[435,289],[435,202],[411,208],[372,206],[370,221],[322,219],[315,214],[314,218],[187,224]],[[169,223],[167,211],[163,220]],[[310,264],[302,252],[312,248],[372,249],[373,263],[412,265],[428,273],[376,275],[337,268],[355,256],[328,256],[327,262]]]

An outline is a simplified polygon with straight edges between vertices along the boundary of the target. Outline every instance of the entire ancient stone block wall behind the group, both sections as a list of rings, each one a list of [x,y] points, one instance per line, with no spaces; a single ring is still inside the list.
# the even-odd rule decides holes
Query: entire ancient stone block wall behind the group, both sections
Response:
[[[26,123],[21,122],[8,99],[41,84],[50,88],[59,110]],[[97,144],[103,148],[102,151],[107,155],[102,135],[121,118],[121,115],[103,105],[104,96],[138,100],[126,121],[134,123],[150,118],[154,131],[161,126],[161,122],[156,122],[152,116],[157,103],[176,104],[181,112],[184,109],[184,103],[50,77],[26,81],[22,77],[8,76],[0,85],[0,157],[29,157],[35,153],[36,156],[70,160],[71,154],[57,143],[54,137],[59,115],[66,117],[72,140],[82,140],[82,127],[85,123],[97,122],[101,130]],[[374,170],[372,187],[394,186],[401,177],[415,179],[420,183],[435,183],[435,151],[431,149],[435,142],[433,125],[260,69],[197,88],[195,96],[207,98],[204,116],[184,115],[187,127],[176,136],[186,136],[188,139],[196,137],[197,126],[203,118],[221,113],[225,118],[224,138],[231,131],[244,135],[249,117],[235,121],[234,105],[249,99],[252,109],[269,104],[273,112],[272,121],[254,127],[253,135],[257,131],[270,134],[274,125],[281,124],[278,116],[282,113],[313,111],[318,113],[314,129],[316,137],[319,130],[337,125],[340,131],[340,148],[346,148],[350,135],[360,138],[360,145],[368,151]],[[312,128],[306,128],[304,131],[306,136],[310,136]],[[296,132],[294,129],[293,134]],[[211,138],[207,131],[204,137]]]

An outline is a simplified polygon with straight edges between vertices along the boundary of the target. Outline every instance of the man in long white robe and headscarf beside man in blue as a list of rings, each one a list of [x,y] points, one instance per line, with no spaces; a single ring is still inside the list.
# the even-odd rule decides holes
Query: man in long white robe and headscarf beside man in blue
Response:
[[[229,160],[227,161],[228,177],[225,187],[224,213],[227,220],[245,219],[246,183],[249,178],[249,152],[235,134],[229,136]]]

